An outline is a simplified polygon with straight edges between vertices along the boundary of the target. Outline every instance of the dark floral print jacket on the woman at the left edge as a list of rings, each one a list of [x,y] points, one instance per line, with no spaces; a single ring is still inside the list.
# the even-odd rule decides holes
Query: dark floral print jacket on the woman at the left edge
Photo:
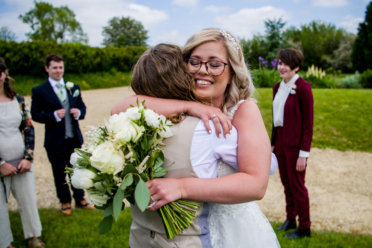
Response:
[[[26,105],[25,98],[22,95],[17,94],[16,99],[19,103],[20,112],[22,113],[22,122],[19,126],[19,131],[22,133],[23,141],[25,143],[25,159],[33,162],[35,130],[32,126],[30,111]]]

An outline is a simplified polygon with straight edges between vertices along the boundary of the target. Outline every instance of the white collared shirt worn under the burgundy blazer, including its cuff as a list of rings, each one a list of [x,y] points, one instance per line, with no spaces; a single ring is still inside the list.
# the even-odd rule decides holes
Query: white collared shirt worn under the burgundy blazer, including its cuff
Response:
[[[287,101],[292,85],[294,85],[299,78],[296,73],[288,83],[284,83],[284,79],[280,82],[278,92],[275,94],[273,100],[273,123],[274,127],[283,126],[284,119],[284,105]],[[310,152],[300,150],[298,157],[308,158]]]

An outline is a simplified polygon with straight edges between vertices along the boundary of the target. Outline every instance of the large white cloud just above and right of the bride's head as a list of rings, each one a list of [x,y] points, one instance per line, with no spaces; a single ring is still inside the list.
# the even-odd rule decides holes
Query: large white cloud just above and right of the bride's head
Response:
[[[223,29],[233,30],[234,34],[240,38],[252,38],[254,34],[264,32],[265,20],[280,17],[287,20],[289,14],[283,9],[264,6],[256,9],[241,9],[231,15],[220,15],[215,18],[215,22]]]

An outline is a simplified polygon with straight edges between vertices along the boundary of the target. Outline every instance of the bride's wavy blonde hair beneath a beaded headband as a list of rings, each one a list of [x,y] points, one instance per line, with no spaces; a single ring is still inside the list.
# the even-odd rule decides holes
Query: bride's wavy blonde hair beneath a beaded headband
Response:
[[[234,41],[226,36],[235,39],[237,46],[233,43]],[[219,106],[220,109],[227,114],[227,109],[235,106],[239,100],[250,99],[257,102],[257,100],[253,98],[256,89],[253,85],[248,65],[246,65],[244,61],[243,51],[237,39],[231,35],[230,32],[218,28],[206,28],[193,34],[183,47],[183,58],[190,58],[196,46],[211,41],[222,42],[226,48],[228,64],[232,66],[231,84],[228,84],[226,87],[224,100],[221,106]]]

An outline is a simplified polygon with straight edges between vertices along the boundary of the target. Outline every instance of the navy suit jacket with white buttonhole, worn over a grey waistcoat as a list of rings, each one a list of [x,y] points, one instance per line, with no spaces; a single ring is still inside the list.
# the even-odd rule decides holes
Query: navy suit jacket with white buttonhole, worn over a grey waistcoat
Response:
[[[81,115],[79,116],[79,120],[82,120],[85,117],[86,107],[83,99],[81,99],[81,94],[72,97],[71,93],[73,94],[75,90],[80,91],[80,87],[77,84],[74,84],[71,90],[67,90],[67,97],[70,108],[77,108],[80,110]],[[49,81],[33,87],[31,99],[32,120],[45,124],[45,148],[62,147],[65,139],[65,120],[63,118],[60,122],[57,122],[54,117],[54,111],[62,109],[62,104]],[[66,115],[70,115],[70,113],[66,111]],[[79,123],[72,115],[71,118],[73,121],[75,138],[77,138],[79,144],[82,145],[83,136],[80,132]]]

